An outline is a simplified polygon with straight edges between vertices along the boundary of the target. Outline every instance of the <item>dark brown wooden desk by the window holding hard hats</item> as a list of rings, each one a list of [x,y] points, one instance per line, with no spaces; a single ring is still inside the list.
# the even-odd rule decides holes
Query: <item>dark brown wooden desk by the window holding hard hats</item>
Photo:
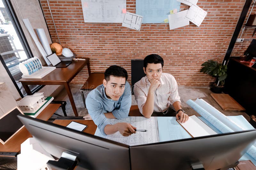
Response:
[[[28,95],[32,95],[28,85],[64,85],[68,93],[71,106],[73,108],[75,116],[78,116],[76,105],[69,87],[70,81],[82,70],[87,64],[88,72],[90,74],[89,58],[86,60],[72,61],[72,63],[66,68],[56,68],[51,73],[47,74],[41,79],[20,79],[22,86],[26,90]]]

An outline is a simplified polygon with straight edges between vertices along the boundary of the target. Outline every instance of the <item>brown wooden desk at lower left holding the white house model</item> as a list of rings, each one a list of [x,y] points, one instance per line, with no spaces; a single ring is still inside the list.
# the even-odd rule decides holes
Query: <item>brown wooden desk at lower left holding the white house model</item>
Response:
[[[36,118],[46,121],[59,107],[60,104],[49,104]],[[31,137],[32,135],[23,127],[6,144],[0,143],[0,152],[20,152],[20,144]]]

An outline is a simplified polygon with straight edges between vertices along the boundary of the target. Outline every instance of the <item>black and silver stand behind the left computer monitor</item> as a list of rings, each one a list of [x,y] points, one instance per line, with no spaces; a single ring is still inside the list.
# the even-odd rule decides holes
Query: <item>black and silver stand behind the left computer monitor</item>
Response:
[[[47,165],[50,166],[52,170],[59,170],[59,169],[73,170],[75,169],[77,164],[78,164],[78,161],[76,159],[76,156],[66,151],[62,152],[61,157],[58,161],[49,160],[47,162]]]

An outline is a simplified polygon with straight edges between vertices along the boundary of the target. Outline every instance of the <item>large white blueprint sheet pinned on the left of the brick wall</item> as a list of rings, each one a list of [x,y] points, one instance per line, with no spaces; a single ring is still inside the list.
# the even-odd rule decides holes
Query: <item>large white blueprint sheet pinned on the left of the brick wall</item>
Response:
[[[84,22],[122,23],[126,0],[81,0]]]

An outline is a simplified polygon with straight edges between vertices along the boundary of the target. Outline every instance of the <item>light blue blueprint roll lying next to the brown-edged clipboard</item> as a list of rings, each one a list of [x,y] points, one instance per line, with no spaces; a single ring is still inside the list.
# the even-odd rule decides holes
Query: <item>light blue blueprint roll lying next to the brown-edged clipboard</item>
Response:
[[[199,99],[197,99],[199,100]],[[201,103],[201,102],[199,102]],[[204,117],[210,124],[212,124],[214,127],[216,127],[221,133],[228,133],[228,132],[234,132],[232,129],[230,129],[227,125],[223,124],[219,119],[212,116],[209,112],[204,110],[201,106],[199,106],[197,103],[193,102],[192,100],[188,100],[187,104],[194,109],[198,114],[200,114],[202,117]],[[250,155],[253,159],[256,160],[256,147],[252,145],[246,153]]]

